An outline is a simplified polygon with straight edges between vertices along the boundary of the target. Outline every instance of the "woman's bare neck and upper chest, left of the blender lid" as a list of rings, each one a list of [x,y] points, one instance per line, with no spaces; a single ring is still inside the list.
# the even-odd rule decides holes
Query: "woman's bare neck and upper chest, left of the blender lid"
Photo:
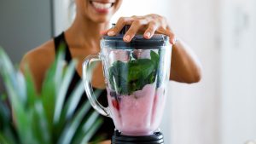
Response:
[[[99,49],[101,32],[107,29],[108,22],[96,23],[89,19],[76,17],[73,25],[65,32],[65,37],[70,47]]]

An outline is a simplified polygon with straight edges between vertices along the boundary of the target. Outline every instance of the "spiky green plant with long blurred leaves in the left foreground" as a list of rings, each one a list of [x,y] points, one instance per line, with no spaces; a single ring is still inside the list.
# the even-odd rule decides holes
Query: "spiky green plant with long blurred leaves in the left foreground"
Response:
[[[102,118],[96,112],[84,118],[90,109],[89,101],[77,107],[84,92],[82,82],[65,97],[76,61],[63,66],[63,58],[61,50],[38,94],[28,68],[22,74],[0,48],[0,73],[7,93],[0,93],[0,144],[84,144],[90,141],[102,124]]]

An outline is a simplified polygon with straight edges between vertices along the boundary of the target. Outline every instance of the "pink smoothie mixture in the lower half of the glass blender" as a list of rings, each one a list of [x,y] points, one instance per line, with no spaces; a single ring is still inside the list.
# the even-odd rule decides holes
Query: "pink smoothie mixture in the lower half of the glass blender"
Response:
[[[166,95],[163,88],[147,84],[132,95],[113,97],[108,90],[108,105],[117,130],[123,135],[151,135],[160,125]]]

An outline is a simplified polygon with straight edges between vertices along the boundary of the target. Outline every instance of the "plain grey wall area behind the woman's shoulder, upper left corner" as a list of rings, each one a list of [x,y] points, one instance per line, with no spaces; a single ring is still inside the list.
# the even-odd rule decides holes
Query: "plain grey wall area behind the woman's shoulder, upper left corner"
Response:
[[[49,0],[1,0],[0,45],[15,63],[51,37],[50,12]]]

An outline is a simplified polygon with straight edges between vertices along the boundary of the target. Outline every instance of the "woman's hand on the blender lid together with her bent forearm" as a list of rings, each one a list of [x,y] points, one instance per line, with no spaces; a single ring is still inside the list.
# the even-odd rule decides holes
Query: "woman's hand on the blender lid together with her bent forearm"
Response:
[[[182,83],[197,83],[201,80],[201,63],[197,59],[193,50],[180,39],[176,43],[176,38],[172,29],[167,24],[166,18],[158,14],[148,14],[144,16],[131,16],[119,18],[116,25],[102,34],[114,36],[118,34],[125,25],[131,27],[125,33],[124,41],[131,42],[132,37],[137,33],[143,33],[143,37],[149,39],[154,33],[165,34],[170,37],[172,43],[172,65],[170,78]]]

